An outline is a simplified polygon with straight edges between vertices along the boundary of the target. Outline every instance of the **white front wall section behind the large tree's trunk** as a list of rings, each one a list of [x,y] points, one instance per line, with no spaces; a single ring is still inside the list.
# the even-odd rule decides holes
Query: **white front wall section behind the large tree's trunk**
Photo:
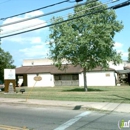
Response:
[[[115,86],[114,72],[88,72],[87,86]],[[84,86],[83,73],[79,75],[79,85]]]

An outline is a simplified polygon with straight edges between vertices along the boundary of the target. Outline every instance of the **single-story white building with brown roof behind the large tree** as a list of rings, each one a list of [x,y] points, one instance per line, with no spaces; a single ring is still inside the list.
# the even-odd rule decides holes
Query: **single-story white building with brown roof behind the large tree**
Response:
[[[35,81],[39,75],[42,80]],[[84,86],[83,69],[71,64],[60,70],[53,64],[27,65],[16,68],[16,79],[23,79],[23,86],[54,87],[54,86]],[[116,75],[114,69],[104,70],[97,67],[86,73],[88,86],[115,86]]]

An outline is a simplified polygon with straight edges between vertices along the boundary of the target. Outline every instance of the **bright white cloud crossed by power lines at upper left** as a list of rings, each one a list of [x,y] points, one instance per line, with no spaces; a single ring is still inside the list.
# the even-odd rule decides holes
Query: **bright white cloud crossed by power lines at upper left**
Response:
[[[3,25],[12,23],[12,22],[17,22],[20,20],[25,20],[27,18],[31,18],[33,16],[37,16],[40,14],[43,14],[43,12],[34,11],[31,13],[25,14],[22,17],[19,16],[19,17],[8,18],[3,22]],[[43,27],[46,24],[47,24],[46,21],[44,21],[40,18],[35,18],[35,19],[28,20],[25,22],[20,22],[20,23],[15,23],[15,24],[8,25],[8,26],[3,26],[3,27],[1,27],[1,29],[2,29],[1,35],[7,35],[7,34],[18,33],[18,32],[26,31],[26,30],[30,30],[30,29],[35,29],[35,28]]]

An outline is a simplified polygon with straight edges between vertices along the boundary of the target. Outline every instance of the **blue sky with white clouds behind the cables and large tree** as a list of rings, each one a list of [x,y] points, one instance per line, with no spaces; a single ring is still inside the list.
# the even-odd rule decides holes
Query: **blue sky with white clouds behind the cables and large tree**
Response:
[[[24,13],[34,9],[38,9],[47,5],[55,4],[65,0],[0,0],[0,19],[7,18],[16,14]],[[108,6],[122,3],[126,0],[120,0],[114,4],[109,4]],[[85,2],[83,0],[82,2]],[[103,0],[103,3],[107,0]],[[23,15],[15,16],[12,18],[7,18],[6,20],[0,20],[0,25],[11,23],[17,20],[23,20],[37,15],[46,14],[70,6],[74,6],[76,3],[74,0],[62,3],[60,5],[52,6],[46,9],[34,11],[31,13],[26,13]],[[67,16],[68,13],[73,13],[73,10],[67,10],[60,13],[35,18],[26,22],[21,22],[18,24],[8,25],[1,27],[0,35],[10,34],[12,32],[18,32],[27,28],[34,29],[35,27],[46,26],[50,23],[50,19],[53,16]],[[125,6],[115,10],[117,15],[117,20],[122,21],[124,28],[121,32],[117,33],[114,37],[115,49],[117,52],[122,53],[122,59],[127,60],[128,58],[128,48],[130,47],[130,5]],[[10,36],[1,39],[1,48],[4,51],[8,51],[14,60],[14,65],[16,67],[22,66],[24,59],[40,59],[47,58],[49,51],[48,42],[49,39],[49,28],[42,28],[39,30],[31,31],[28,33],[23,33],[15,36]]]

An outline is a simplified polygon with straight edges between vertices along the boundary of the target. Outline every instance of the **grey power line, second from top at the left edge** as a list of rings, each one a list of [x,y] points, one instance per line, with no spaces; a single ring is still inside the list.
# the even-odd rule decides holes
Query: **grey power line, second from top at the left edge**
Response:
[[[78,4],[78,5],[76,5],[76,6],[85,5],[86,3],[92,3],[92,2],[95,2],[95,1],[97,1],[97,0],[93,0],[93,1],[90,1],[90,2],[84,2],[84,3]],[[8,25],[17,24],[17,23],[29,21],[29,20],[32,20],[32,19],[36,19],[36,18],[39,18],[39,17],[43,17],[43,16],[47,16],[47,15],[59,13],[59,12],[62,12],[62,11],[68,10],[68,9],[72,9],[72,8],[74,8],[74,7],[75,7],[75,6],[71,6],[71,7],[67,7],[67,8],[64,8],[64,9],[56,10],[56,11],[53,11],[53,12],[49,12],[49,13],[46,13],[46,14],[37,15],[37,16],[31,17],[31,18],[22,19],[22,20],[19,20],[19,21],[15,21],[15,22],[3,24],[3,25],[1,25],[0,27],[5,27],[5,26],[8,26]]]

